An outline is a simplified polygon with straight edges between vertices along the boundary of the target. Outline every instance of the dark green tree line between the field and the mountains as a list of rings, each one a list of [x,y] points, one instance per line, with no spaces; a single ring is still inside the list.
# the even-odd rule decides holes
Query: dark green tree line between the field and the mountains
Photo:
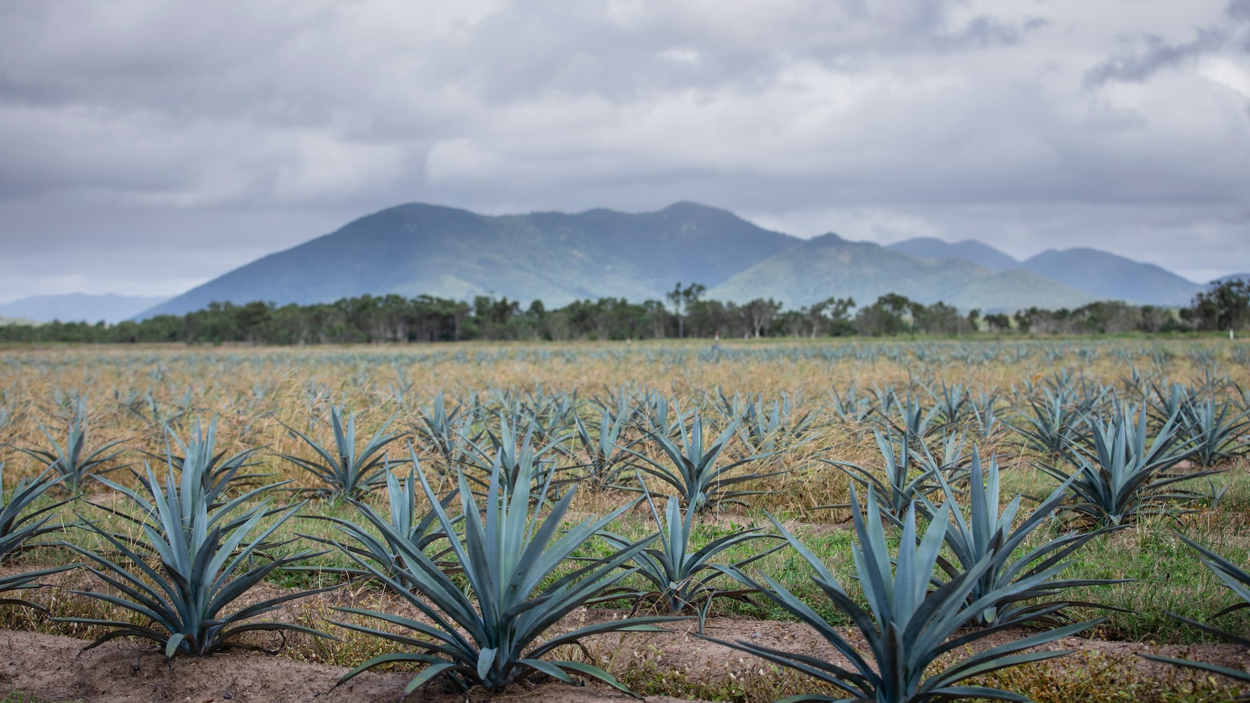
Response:
[[[1225,281],[1200,293],[1189,308],[1099,301],[1072,310],[1030,308],[1014,315],[961,313],[894,293],[870,305],[831,296],[796,310],[759,298],[749,303],[706,299],[700,284],[680,283],[665,300],[575,300],[546,309],[541,300],[478,296],[472,303],[432,295],[361,295],[335,303],[275,305],[212,303],[185,315],[105,323],[0,325],[2,343],[344,344],[396,341],[662,339],[749,336],[888,336],[899,334],[1121,334],[1245,329],[1250,286]]]

